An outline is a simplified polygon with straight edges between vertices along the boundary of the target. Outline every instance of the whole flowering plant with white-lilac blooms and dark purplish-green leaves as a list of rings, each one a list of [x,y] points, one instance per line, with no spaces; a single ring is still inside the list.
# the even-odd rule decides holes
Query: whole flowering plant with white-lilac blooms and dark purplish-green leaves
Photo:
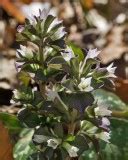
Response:
[[[19,120],[34,129],[37,152],[28,159],[82,159],[89,148],[100,159],[99,140],[109,143],[111,111],[93,92],[113,85],[115,67],[101,68],[97,49],[78,52],[65,39],[62,21],[46,10],[18,27],[24,45],[16,53],[13,101],[23,106]]]

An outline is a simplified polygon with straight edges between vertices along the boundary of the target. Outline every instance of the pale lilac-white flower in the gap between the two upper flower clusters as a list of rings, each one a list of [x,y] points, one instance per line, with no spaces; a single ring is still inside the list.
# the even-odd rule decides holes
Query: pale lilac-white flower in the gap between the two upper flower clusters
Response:
[[[70,59],[74,57],[74,53],[70,47],[67,47],[66,52],[61,52],[61,55],[67,62],[70,61]]]

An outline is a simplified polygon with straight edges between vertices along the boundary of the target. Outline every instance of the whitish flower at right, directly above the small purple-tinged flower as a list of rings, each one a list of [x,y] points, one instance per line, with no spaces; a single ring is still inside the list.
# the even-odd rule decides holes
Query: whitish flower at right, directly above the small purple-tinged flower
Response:
[[[111,116],[112,111],[108,109],[106,104],[98,101],[97,105],[94,109],[96,116]]]

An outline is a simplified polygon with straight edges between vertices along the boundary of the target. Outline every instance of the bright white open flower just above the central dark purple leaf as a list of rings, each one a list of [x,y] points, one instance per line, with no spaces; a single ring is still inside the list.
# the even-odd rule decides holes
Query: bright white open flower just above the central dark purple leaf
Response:
[[[91,86],[91,77],[89,78],[81,78],[81,82],[78,85],[78,88],[81,91],[90,92],[93,90],[93,87]]]

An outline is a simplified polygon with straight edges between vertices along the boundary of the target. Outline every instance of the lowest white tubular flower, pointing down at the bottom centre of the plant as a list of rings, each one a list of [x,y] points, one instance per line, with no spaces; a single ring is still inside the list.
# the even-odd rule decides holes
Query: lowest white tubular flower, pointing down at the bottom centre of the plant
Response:
[[[64,143],[63,147],[67,150],[70,157],[77,157],[77,152],[79,151],[79,148],[70,145],[69,143]]]

